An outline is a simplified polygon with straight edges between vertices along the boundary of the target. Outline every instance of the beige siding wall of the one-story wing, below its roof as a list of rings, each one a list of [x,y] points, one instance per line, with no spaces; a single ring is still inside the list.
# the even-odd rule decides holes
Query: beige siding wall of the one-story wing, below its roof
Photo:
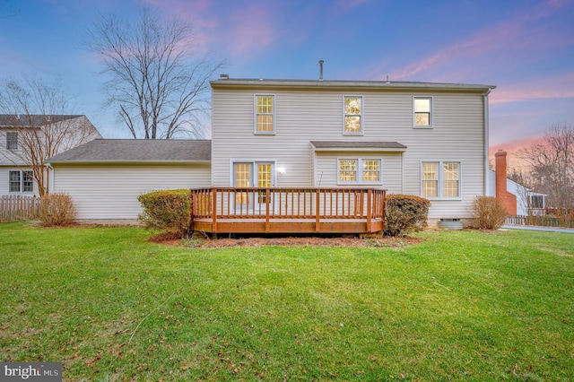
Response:
[[[137,196],[162,189],[209,187],[209,164],[54,166],[54,192],[72,196],[78,220],[135,220]]]

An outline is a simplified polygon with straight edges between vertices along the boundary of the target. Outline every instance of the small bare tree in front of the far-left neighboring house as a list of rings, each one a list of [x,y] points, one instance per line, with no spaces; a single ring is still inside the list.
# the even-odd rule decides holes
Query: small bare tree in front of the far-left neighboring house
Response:
[[[7,79],[0,87],[2,126],[15,133],[13,147],[0,156],[22,169],[31,169],[40,196],[48,193],[46,160],[93,138],[101,137],[74,106],[59,84],[35,78]]]

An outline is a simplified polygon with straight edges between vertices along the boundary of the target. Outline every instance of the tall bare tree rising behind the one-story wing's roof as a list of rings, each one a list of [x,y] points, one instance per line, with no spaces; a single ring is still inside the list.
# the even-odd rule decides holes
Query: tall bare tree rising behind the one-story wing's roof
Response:
[[[101,15],[85,46],[104,66],[106,106],[117,107],[134,138],[203,135],[209,80],[223,63],[195,55],[189,23],[164,21],[148,6],[140,8],[135,23]]]

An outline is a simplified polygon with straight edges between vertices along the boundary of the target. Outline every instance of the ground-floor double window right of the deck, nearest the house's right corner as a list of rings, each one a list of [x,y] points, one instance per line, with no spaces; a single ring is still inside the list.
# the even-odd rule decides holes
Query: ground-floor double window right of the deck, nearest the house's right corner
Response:
[[[460,198],[459,161],[423,161],[421,195],[430,199]]]

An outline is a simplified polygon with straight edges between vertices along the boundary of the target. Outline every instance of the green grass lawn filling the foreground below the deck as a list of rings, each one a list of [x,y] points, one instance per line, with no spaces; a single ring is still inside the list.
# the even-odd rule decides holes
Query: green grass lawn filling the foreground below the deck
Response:
[[[198,249],[0,224],[0,360],[65,380],[574,378],[574,237]]]

